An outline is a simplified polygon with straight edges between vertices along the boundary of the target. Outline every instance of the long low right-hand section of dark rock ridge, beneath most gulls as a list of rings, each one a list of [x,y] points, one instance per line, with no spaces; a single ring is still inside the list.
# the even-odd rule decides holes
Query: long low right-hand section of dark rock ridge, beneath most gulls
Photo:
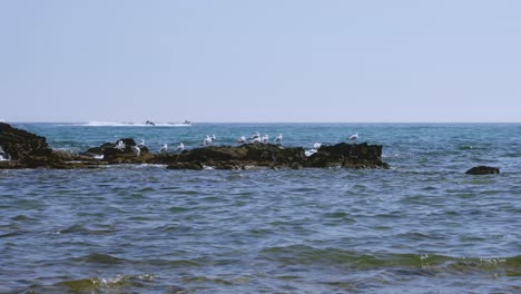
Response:
[[[348,167],[389,168],[383,163],[382,146],[345,144],[322,146],[315,154],[305,156],[302,147],[283,147],[272,144],[245,144],[237,147],[209,146],[179,155],[157,157],[157,163],[171,169],[205,168],[245,169],[249,167],[303,168]]]

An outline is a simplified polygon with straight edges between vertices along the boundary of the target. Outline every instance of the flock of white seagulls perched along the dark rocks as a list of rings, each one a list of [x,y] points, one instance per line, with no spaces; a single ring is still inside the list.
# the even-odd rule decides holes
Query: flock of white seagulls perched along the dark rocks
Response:
[[[215,143],[216,139],[217,139],[217,137],[215,135],[212,135],[212,136],[206,135],[206,137],[203,140],[203,143],[200,144],[200,146],[203,146],[203,147],[212,146]],[[351,141],[355,141],[357,139],[358,139],[358,131],[356,131],[355,134],[347,137],[347,140],[351,140]],[[246,136],[240,136],[240,137],[237,138],[238,144],[245,144],[248,140],[252,144],[267,144],[269,141],[269,136],[268,135],[260,136],[260,134],[258,131],[256,131],[248,139],[246,139]],[[283,140],[283,135],[278,134],[273,141],[277,143],[277,144],[281,144],[282,140]],[[142,147],[145,147],[145,140],[144,139],[141,139],[140,143],[136,144],[135,146],[130,146],[130,149],[132,150],[132,153],[137,157],[139,157],[141,155],[141,148]],[[313,148],[305,151],[305,155],[306,156],[312,156],[313,154],[317,153],[321,147],[322,147],[321,143],[315,143],[315,144],[313,144]],[[124,140],[118,140],[114,148],[119,149],[119,150],[122,151],[125,148],[127,148],[127,146],[126,146]],[[179,143],[179,145],[177,145],[177,147],[175,149],[175,153],[183,153],[183,150],[185,150],[185,145],[183,143]],[[163,153],[167,153],[167,151],[168,151],[168,144],[165,143],[159,148],[158,153],[163,154]],[[3,150],[0,147],[0,155],[2,153],[3,153]],[[99,155],[99,156],[95,156],[95,158],[96,159],[102,159],[104,156]]]

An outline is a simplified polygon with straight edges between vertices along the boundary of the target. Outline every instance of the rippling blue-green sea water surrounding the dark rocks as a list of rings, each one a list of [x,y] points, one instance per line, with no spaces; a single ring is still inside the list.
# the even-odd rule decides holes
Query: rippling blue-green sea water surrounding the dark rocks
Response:
[[[0,170],[0,293],[521,292],[520,124],[13,126],[71,151],[358,131],[392,168]]]

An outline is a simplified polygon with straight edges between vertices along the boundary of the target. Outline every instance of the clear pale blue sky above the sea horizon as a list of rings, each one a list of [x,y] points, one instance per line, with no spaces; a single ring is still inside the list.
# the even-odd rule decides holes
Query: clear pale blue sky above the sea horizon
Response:
[[[515,0],[0,0],[0,119],[519,122],[520,11]]]

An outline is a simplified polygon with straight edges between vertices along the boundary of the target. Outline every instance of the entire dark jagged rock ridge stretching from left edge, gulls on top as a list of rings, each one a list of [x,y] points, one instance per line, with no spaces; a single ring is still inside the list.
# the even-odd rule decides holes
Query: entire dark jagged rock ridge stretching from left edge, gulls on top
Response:
[[[163,164],[170,169],[389,168],[381,159],[382,146],[368,144],[322,146],[311,156],[306,156],[302,147],[273,144],[208,146],[179,154],[151,154],[132,138],[124,138],[81,154],[70,154],[50,149],[43,137],[0,124],[0,146],[11,159],[0,161],[0,168],[92,168],[115,164]]]

